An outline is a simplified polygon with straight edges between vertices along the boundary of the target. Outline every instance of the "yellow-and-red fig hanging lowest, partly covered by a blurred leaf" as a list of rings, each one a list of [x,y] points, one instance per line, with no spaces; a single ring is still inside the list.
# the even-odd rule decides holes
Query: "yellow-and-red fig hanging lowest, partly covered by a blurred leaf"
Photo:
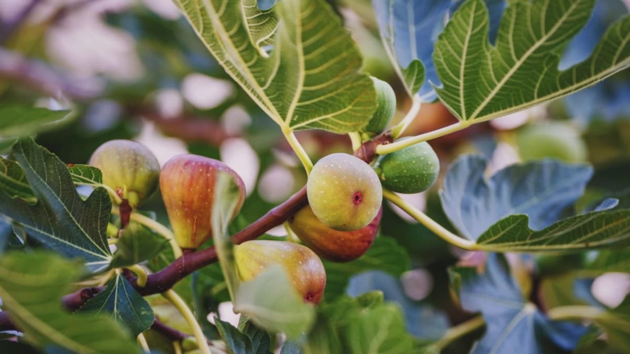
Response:
[[[270,265],[287,271],[304,302],[318,304],[326,287],[326,270],[311,249],[286,241],[247,241],[234,246],[234,259],[241,280],[247,282]]]

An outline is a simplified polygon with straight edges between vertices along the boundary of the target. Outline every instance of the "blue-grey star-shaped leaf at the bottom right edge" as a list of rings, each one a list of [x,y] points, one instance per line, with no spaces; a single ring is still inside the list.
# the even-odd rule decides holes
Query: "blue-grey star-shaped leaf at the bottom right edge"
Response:
[[[452,268],[452,287],[466,311],[481,312],[484,336],[471,353],[542,354],[546,343],[556,351],[575,347],[585,328],[547,319],[536,305],[527,302],[502,256],[488,254],[483,273],[476,268]]]

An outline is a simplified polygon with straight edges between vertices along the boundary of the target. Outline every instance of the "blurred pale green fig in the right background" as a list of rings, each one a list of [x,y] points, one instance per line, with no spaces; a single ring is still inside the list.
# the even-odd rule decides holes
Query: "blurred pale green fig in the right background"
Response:
[[[529,124],[518,130],[516,140],[524,161],[545,157],[567,163],[587,161],[588,149],[580,133],[563,122]]]

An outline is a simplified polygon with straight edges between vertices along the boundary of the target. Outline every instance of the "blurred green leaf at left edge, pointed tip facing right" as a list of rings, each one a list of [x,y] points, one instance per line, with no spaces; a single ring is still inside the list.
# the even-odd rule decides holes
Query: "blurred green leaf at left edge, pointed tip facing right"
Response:
[[[0,137],[24,137],[54,127],[70,111],[52,111],[23,105],[0,106]]]

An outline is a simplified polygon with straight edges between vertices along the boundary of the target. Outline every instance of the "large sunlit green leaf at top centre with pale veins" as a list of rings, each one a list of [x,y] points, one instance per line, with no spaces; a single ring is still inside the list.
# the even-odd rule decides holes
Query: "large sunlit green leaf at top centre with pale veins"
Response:
[[[376,109],[372,80],[324,0],[174,0],[227,73],[280,127],[360,130]],[[278,21],[281,18],[282,21]],[[273,42],[267,53],[261,45]]]

